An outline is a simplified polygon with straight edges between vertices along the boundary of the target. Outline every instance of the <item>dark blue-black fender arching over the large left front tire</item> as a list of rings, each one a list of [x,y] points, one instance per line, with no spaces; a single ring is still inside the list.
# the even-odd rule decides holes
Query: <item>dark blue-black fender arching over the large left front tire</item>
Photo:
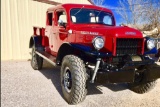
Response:
[[[59,51],[57,54],[57,58],[56,58],[57,64],[60,64],[63,60],[63,57],[69,54],[78,55],[80,58],[84,60],[91,60],[92,58],[96,58],[96,57],[112,56],[112,53],[99,52],[89,46],[84,46],[84,45],[75,44],[75,43],[63,43],[59,48]],[[90,59],[89,57],[92,57],[92,58]]]

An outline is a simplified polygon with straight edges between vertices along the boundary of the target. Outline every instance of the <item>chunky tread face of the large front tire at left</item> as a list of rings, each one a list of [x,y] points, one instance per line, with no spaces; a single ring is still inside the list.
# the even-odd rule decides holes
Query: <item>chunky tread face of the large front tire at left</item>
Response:
[[[78,104],[82,102],[86,97],[86,69],[83,61],[74,55],[67,55],[64,60],[68,60],[69,65],[71,65],[71,70],[73,71],[74,82],[72,85],[73,92],[71,94],[69,104]],[[63,66],[63,62],[62,62]]]

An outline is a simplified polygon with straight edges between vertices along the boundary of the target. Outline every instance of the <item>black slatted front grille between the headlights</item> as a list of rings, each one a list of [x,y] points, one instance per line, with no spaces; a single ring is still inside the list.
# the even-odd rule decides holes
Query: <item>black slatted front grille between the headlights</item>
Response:
[[[116,55],[137,55],[142,52],[142,39],[135,38],[118,38],[116,46]]]

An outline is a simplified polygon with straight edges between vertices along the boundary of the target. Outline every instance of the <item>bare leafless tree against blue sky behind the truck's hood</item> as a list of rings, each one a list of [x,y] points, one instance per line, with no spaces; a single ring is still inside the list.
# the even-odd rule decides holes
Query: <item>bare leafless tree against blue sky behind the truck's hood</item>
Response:
[[[160,24],[159,0],[119,0],[117,13],[127,25],[151,30]]]

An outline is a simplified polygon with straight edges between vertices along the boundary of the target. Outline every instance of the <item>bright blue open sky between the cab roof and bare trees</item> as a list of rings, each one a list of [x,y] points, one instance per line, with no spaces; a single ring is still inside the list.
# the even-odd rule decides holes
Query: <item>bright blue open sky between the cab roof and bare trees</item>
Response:
[[[92,0],[96,5],[98,5],[97,1],[98,0]],[[101,0],[99,0],[101,1]],[[160,0],[152,0],[152,2],[160,2]],[[121,18],[119,14],[117,14],[116,10],[119,8],[119,0],[104,0],[103,6],[112,10],[115,20],[116,20],[116,25],[119,26],[120,24],[124,23],[125,21]]]

